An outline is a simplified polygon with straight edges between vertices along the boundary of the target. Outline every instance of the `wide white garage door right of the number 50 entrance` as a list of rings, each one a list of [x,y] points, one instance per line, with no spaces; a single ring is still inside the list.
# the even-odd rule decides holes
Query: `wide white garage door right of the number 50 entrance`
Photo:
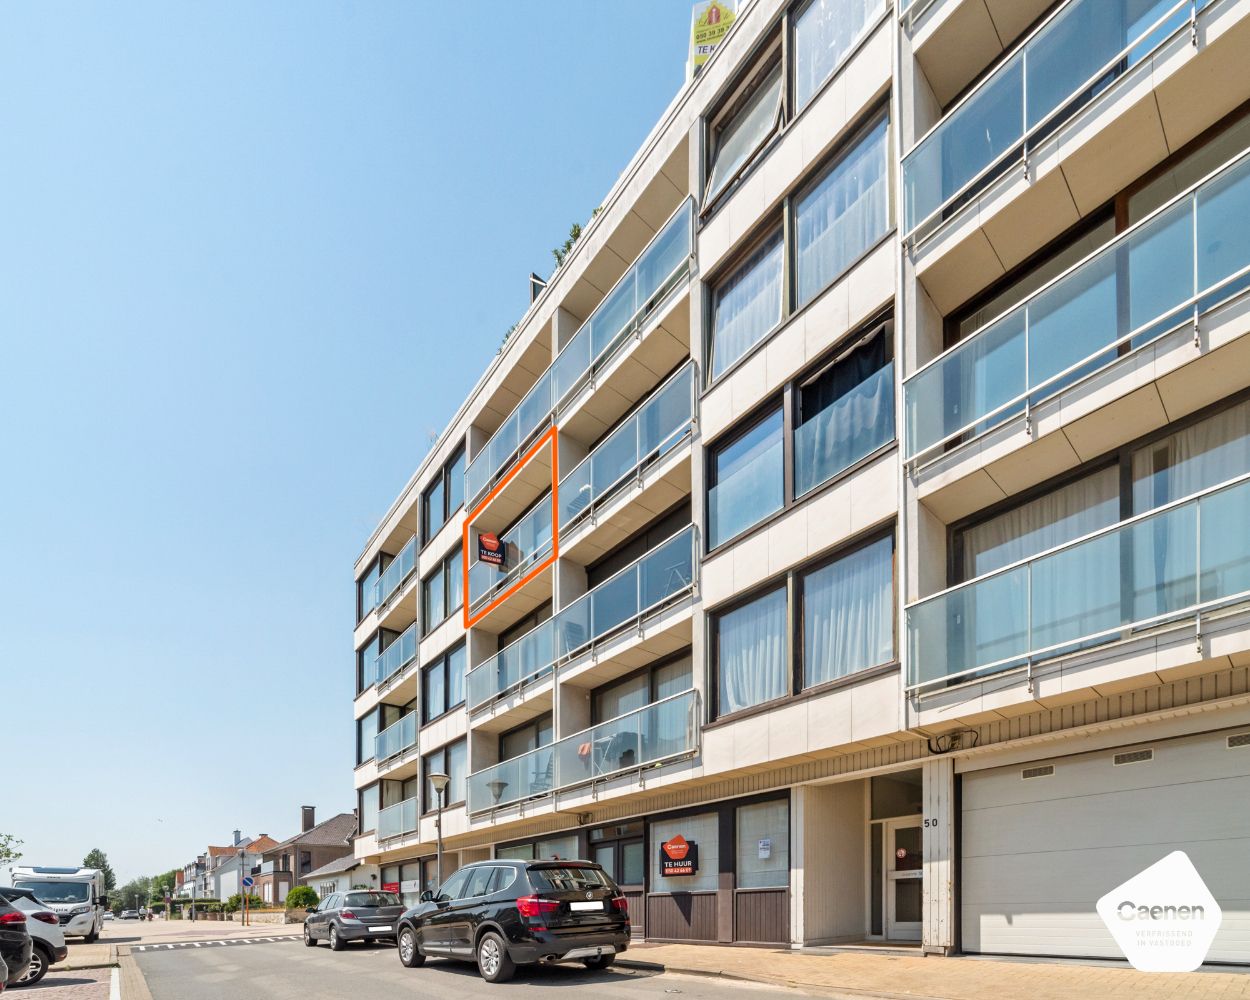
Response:
[[[1184,850],[1224,910],[1208,961],[1250,962],[1244,730],[966,772],[961,850],[965,951],[1124,958],[1095,904]]]

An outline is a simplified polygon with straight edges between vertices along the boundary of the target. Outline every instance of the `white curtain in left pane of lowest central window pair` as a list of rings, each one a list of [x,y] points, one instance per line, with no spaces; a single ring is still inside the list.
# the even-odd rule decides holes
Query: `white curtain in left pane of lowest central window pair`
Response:
[[[780,589],[720,618],[721,715],[786,694],[785,609],[786,592]]]

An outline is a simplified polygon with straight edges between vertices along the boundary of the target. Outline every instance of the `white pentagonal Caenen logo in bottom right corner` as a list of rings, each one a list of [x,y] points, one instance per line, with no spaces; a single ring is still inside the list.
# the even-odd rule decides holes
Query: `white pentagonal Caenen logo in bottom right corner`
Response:
[[[1191,972],[1206,959],[1224,914],[1184,851],[1172,851],[1098,901],[1102,922],[1134,969]]]

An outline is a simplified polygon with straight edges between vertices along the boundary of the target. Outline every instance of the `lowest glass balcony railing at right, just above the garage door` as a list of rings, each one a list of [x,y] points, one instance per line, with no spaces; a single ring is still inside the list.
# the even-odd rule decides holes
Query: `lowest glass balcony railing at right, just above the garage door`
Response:
[[[1250,476],[908,608],[909,689],[1009,670],[1250,599]]]

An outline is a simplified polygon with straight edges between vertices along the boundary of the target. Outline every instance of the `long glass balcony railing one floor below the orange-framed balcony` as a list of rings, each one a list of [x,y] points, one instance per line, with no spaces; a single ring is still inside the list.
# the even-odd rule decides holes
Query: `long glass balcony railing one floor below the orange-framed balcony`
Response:
[[[560,660],[688,590],[694,581],[694,545],[690,525],[475,666],[466,678],[469,708],[542,676]]]

